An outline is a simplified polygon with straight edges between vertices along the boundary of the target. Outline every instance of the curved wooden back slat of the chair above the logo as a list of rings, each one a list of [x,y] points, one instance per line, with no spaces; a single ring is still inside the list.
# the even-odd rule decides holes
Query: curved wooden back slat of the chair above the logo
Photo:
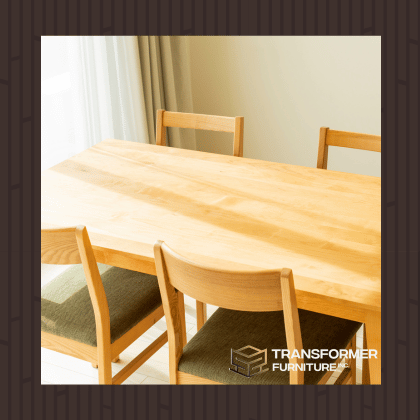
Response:
[[[161,251],[170,284],[200,302],[238,311],[283,309],[280,270],[224,271],[188,261],[166,244]]]

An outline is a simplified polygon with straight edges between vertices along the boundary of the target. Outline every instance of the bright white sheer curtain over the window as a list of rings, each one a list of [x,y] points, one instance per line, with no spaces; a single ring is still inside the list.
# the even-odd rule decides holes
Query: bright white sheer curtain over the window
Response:
[[[106,138],[149,142],[137,36],[45,37],[41,170]]]

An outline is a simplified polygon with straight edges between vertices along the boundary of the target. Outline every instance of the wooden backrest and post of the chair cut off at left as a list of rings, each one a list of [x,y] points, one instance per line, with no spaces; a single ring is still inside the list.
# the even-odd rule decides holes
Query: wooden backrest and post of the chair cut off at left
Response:
[[[103,352],[103,343],[110,343],[109,308],[86,227],[41,229],[41,262],[64,265],[83,264],[95,313],[98,348],[100,352]]]

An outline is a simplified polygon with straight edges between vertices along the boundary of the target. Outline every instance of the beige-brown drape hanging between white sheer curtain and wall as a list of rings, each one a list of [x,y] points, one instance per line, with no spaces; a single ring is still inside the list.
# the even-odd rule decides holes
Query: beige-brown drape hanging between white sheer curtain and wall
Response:
[[[139,56],[149,143],[156,143],[156,111],[193,112],[188,39],[139,36]],[[194,130],[168,128],[167,143],[196,149]]]

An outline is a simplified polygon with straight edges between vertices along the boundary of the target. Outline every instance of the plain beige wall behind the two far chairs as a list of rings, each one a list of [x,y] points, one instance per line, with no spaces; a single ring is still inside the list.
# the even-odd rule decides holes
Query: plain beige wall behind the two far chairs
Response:
[[[244,156],[316,166],[321,126],[381,133],[380,37],[190,37],[194,112],[245,117]],[[232,136],[197,131],[199,150]],[[380,176],[380,153],[330,148],[329,169]]]

